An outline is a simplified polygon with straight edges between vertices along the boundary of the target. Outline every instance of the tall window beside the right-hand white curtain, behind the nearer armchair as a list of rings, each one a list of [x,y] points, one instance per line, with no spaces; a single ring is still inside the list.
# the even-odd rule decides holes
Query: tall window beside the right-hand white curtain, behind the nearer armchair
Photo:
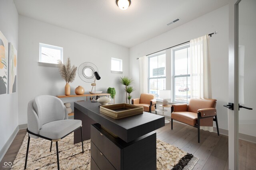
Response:
[[[172,49],[173,102],[190,100],[190,45]]]

